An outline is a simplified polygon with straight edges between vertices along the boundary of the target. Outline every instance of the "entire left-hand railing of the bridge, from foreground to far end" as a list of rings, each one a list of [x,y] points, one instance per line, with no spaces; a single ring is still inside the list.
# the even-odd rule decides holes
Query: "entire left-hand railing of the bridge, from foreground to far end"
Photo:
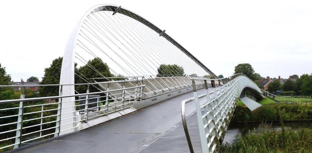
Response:
[[[111,77],[114,79],[115,77]],[[7,137],[0,139],[0,143],[6,142],[0,150],[7,147],[17,148],[21,144],[59,136],[61,132],[77,128],[81,122],[98,116],[108,116],[108,114],[117,112],[132,106],[134,101],[142,100],[146,95],[157,93],[158,91],[174,90],[183,87],[192,86],[193,77],[174,76],[174,77],[155,77],[145,78],[124,77],[129,80],[105,81],[95,83],[80,84],[51,84],[36,85],[57,86],[59,87],[58,96],[47,96],[29,98],[25,97],[25,88],[33,85],[5,85],[0,87],[21,87],[20,99],[2,100],[0,112],[16,111],[15,114],[9,113],[0,116],[0,119],[8,119],[9,123],[0,123],[0,134]],[[92,78],[103,79],[103,78]],[[200,79],[200,78],[198,78]],[[196,80],[196,85],[202,85],[203,80]],[[223,82],[219,82],[220,85]],[[63,86],[87,86],[85,93],[74,95],[62,95]],[[102,91],[89,92],[90,86],[99,86]],[[163,93],[163,92],[161,92]],[[91,97],[98,95],[96,97]],[[73,97],[73,99],[68,97]],[[79,98],[80,97],[80,98]],[[52,103],[46,102],[55,101]],[[91,102],[95,100],[95,102]],[[80,103],[83,101],[82,103]],[[3,107],[3,105],[11,103],[11,106]],[[65,106],[65,104],[67,104]],[[16,105],[16,106],[15,106]],[[72,108],[71,111],[62,111],[63,109]],[[2,113],[3,114],[3,113]],[[73,114],[70,117],[64,117]],[[71,121],[66,121],[73,119]],[[72,125],[69,128],[68,125]],[[10,127],[11,129],[9,129]],[[14,128],[12,130],[12,128]]]

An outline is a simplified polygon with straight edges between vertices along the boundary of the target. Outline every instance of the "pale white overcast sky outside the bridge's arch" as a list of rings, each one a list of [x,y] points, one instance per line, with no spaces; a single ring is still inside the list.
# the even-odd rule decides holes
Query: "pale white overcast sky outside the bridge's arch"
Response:
[[[0,63],[14,81],[43,77],[81,16],[121,5],[154,23],[215,74],[250,63],[266,77],[312,72],[311,1],[54,0],[0,2]]]

